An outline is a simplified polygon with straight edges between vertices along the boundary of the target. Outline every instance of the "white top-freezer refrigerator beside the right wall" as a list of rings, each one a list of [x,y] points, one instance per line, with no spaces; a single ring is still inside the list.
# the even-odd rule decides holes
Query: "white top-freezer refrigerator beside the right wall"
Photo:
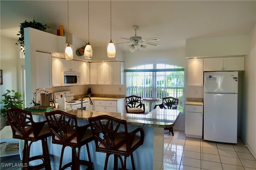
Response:
[[[204,140],[237,143],[238,72],[204,72]]]

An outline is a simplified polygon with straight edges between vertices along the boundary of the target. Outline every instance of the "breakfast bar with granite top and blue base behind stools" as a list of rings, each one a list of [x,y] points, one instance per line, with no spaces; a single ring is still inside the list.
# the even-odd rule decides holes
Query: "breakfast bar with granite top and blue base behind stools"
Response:
[[[153,109],[150,113],[146,114],[132,114],[132,113],[114,113],[102,111],[89,111],[89,110],[62,110],[70,114],[77,115],[78,125],[88,124],[89,117],[96,117],[98,115],[110,115],[118,119],[126,120],[128,124],[128,132],[141,127],[144,129],[145,137],[144,143],[137,150],[134,151],[134,162],[137,170],[162,170],[163,166],[163,147],[164,147],[164,128],[172,127],[180,111],[174,109]],[[35,121],[43,121],[44,112],[33,111],[33,119]],[[52,144],[51,137],[48,138],[49,153],[51,159],[52,170],[58,169],[60,161],[61,145]],[[38,145],[38,146],[37,146]],[[40,143],[33,144],[32,154],[42,152],[39,147]],[[83,146],[84,147],[84,146]],[[81,148],[80,158],[88,160],[86,148]],[[95,143],[89,143],[90,154],[94,169],[104,169],[105,153],[95,151]],[[66,148],[64,151],[66,155],[63,158],[63,164],[71,160],[71,149]],[[113,169],[114,156],[110,156],[108,160],[108,169]],[[127,159],[127,169],[132,169],[130,157]]]

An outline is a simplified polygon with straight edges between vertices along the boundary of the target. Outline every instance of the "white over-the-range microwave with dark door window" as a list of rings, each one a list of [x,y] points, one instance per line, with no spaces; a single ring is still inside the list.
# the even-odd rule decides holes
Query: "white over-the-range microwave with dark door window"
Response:
[[[63,86],[80,85],[80,72],[62,71]]]

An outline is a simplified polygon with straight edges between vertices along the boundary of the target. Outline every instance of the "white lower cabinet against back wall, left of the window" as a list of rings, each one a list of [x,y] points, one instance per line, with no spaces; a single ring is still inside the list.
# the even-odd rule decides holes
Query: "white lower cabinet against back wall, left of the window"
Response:
[[[124,99],[118,101],[94,100],[93,110],[124,113]]]

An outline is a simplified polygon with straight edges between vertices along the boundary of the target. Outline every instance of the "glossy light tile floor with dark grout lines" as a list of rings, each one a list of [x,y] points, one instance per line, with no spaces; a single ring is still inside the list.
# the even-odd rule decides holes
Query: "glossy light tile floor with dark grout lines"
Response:
[[[256,170],[256,160],[240,138],[232,145],[165,131],[164,170]]]

